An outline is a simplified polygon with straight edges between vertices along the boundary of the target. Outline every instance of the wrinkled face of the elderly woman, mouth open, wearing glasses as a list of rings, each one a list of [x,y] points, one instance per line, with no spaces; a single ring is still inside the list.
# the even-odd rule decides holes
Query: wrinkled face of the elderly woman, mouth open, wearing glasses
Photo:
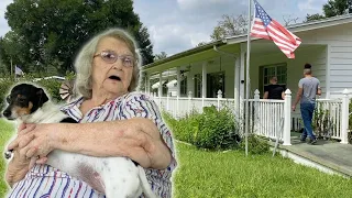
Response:
[[[92,61],[92,89],[101,89],[117,97],[127,94],[133,67],[133,54],[123,41],[101,38]]]

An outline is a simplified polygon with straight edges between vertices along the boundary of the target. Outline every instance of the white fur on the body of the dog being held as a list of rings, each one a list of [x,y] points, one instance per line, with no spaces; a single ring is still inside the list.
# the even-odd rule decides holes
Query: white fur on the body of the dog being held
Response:
[[[68,118],[58,107],[47,101],[35,112],[22,117],[25,123],[55,123]],[[156,198],[146,180],[144,168],[125,157],[95,157],[61,150],[47,156],[48,165],[79,178],[107,198],[132,198],[142,193]],[[97,174],[94,174],[97,173]],[[102,188],[100,188],[102,187]]]

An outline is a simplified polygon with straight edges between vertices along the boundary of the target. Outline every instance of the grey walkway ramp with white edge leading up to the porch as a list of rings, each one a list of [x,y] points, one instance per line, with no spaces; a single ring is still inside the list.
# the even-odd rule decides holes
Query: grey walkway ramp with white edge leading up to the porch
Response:
[[[301,143],[299,136],[292,135],[292,145],[279,145],[278,148],[284,156],[286,155],[297,163],[352,178],[351,144],[318,140],[316,145],[310,145]]]

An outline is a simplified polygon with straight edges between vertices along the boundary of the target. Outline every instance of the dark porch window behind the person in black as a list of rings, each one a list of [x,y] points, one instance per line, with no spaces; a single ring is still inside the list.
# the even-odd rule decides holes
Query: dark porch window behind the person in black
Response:
[[[286,63],[267,65],[260,67],[260,81],[258,87],[261,91],[261,97],[264,95],[264,87],[271,84],[271,77],[277,77],[277,84],[286,88],[287,84],[287,65]]]

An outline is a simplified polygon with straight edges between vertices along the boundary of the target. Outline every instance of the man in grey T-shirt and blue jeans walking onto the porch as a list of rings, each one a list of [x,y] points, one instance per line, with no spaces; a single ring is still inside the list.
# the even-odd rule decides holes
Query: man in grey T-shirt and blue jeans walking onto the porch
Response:
[[[304,120],[304,133],[300,138],[301,142],[306,142],[307,135],[309,136],[309,143],[316,144],[317,139],[312,133],[311,121],[312,113],[316,107],[316,95],[321,95],[320,81],[311,76],[311,65],[306,64],[304,69],[305,77],[298,82],[298,91],[296,100],[293,106],[293,111],[296,110],[297,103],[300,101],[300,114]]]

